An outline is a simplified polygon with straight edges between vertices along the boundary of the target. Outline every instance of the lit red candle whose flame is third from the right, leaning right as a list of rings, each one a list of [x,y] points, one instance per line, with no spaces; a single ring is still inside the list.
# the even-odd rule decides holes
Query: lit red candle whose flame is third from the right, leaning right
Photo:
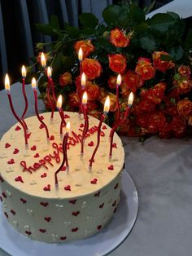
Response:
[[[109,96],[107,96],[107,99],[106,99],[105,104],[104,104],[103,115],[102,115],[101,120],[99,121],[99,124],[98,124],[98,140],[97,140],[96,147],[94,148],[94,153],[93,153],[93,155],[92,155],[92,157],[90,158],[90,161],[89,161],[89,170],[92,169],[94,156],[95,156],[96,152],[98,151],[98,147],[99,147],[99,143],[100,143],[102,123],[103,123],[104,118],[107,116],[107,113],[109,112],[109,108],[110,108],[110,98],[109,98]]]

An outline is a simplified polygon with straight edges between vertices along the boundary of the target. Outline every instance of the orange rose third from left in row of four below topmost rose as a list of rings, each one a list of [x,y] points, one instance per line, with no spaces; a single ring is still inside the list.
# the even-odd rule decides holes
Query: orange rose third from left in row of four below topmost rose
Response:
[[[139,58],[135,72],[142,77],[142,80],[150,80],[155,77],[156,69],[152,66],[149,59]]]

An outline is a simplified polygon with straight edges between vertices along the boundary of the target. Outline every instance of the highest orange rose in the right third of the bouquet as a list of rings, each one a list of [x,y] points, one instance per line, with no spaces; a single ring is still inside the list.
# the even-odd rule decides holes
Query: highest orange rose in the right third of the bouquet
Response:
[[[168,52],[164,52],[164,51],[155,51],[152,54],[153,64],[154,64],[155,68],[157,68],[161,72],[165,72],[166,70],[168,70],[170,68],[175,68],[175,64],[171,60],[170,61],[161,60],[161,58],[160,58],[161,55],[169,56]]]

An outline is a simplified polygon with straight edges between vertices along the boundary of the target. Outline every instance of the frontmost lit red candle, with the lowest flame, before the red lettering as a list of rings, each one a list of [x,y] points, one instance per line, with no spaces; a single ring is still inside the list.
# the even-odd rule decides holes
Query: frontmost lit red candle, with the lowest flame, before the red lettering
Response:
[[[55,171],[55,186],[58,186],[57,174],[59,174],[59,171],[62,170],[65,161],[66,161],[66,163],[68,163],[67,144],[68,144],[68,133],[69,133],[69,130],[70,130],[70,122],[68,121],[67,126],[66,126],[66,133],[65,133],[65,135],[63,137],[63,143],[62,143],[63,161],[62,161],[61,165],[59,166],[59,169]]]

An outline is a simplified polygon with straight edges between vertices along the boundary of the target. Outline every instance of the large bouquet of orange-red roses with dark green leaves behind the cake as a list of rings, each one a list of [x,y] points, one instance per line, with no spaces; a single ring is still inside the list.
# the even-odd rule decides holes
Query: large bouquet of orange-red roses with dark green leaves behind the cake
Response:
[[[83,51],[82,71],[87,77],[88,112],[101,117],[103,103],[110,95],[108,122],[112,126],[124,116],[130,92],[135,95],[129,119],[118,127],[121,134],[145,138],[181,138],[190,135],[192,126],[191,59],[192,30],[185,29],[185,20],[172,12],[146,19],[145,10],[135,4],[111,5],[103,11],[104,23],[90,13],[79,16],[79,28],[64,24],[53,16],[50,24],[37,24],[41,33],[53,42],[37,43],[40,52],[35,60],[39,72],[28,67],[28,79],[39,77],[39,90],[46,109],[46,73],[41,67],[41,51],[53,68],[56,94],[64,97],[63,108],[78,111],[81,86],[78,51]],[[46,48],[45,48],[46,47]],[[116,77],[122,76],[120,96],[116,98]],[[55,101],[53,99],[53,104]]]

